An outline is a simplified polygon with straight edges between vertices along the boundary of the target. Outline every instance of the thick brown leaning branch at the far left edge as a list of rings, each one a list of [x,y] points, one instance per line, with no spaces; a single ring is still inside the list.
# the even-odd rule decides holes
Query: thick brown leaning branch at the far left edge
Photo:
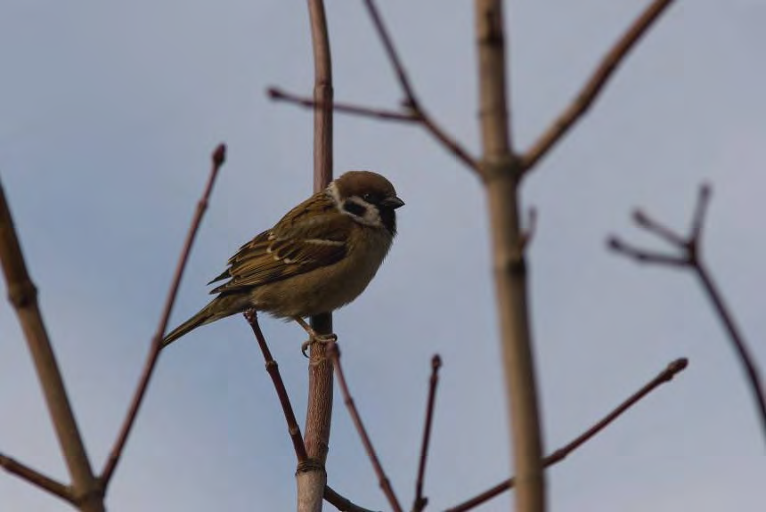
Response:
[[[77,429],[75,415],[69,405],[69,398],[53,354],[40,309],[37,305],[37,288],[29,277],[19,239],[13,228],[11,211],[5,201],[3,185],[0,183],[0,260],[5,280],[8,283],[8,297],[19,316],[21,329],[27,338],[29,352],[35,362],[37,378],[43,387],[48,412],[61,446],[61,452],[69,468],[74,497],[83,512],[102,512],[103,493],[98,479],[94,476],[86,448]]]

